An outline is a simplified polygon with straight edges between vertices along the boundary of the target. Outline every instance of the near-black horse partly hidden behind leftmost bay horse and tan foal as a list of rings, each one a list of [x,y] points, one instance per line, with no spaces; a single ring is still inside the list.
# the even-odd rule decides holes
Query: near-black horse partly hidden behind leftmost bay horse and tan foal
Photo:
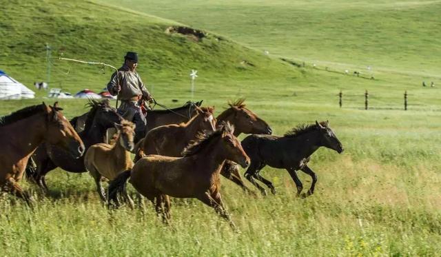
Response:
[[[108,128],[114,127],[114,123],[121,123],[123,118],[116,113],[116,109],[111,107],[107,99],[103,101],[90,100],[88,105],[91,107],[88,119],[85,121],[85,129],[79,132],[79,136],[84,142],[85,150],[90,145],[103,143],[105,132]],[[81,173],[87,172],[84,167],[84,157],[72,158],[68,152],[50,143],[45,143],[37,148],[33,154],[37,171],[32,172],[28,169],[28,175],[34,178],[34,181],[45,191],[48,187],[45,183],[45,175],[52,169],[61,167],[67,172]]]

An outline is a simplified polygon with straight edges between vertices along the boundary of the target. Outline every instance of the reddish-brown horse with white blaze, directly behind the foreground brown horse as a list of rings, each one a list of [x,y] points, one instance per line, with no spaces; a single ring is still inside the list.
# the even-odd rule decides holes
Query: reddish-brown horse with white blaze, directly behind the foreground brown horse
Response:
[[[196,112],[196,116],[187,123],[163,125],[150,130],[140,143],[134,161],[138,161],[142,154],[179,157],[185,146],[196,139],[198,133],[216,130],[214,107],[196,107]]]

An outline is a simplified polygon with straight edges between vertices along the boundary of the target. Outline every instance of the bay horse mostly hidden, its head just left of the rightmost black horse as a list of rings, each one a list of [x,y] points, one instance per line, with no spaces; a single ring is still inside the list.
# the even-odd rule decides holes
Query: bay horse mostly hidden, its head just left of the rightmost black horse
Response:
[[[229,122],[234,125],[234,136],[239,136],[242,133],[271,134],[271,127],[263,119],[260,119],[257,114],[245,107],[244,101],[245,99],[238,99],[237,101],[229,102],[229,108],[217,116],[217,124]],[[236,164],[226,161],[220,174],[242,187],[245,192],[254,194],[243,183]]]

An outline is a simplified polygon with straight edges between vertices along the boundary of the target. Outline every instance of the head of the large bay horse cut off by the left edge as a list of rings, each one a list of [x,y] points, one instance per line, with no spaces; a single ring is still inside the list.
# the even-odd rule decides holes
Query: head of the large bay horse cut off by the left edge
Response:
[[[46,110],[46,123],[47,134],[45,140],[52,145],[60,145],[65,148],[74,156],[79,158],[84,154],[85,147],[83,141],[78,134],[76,134],[74,127],[70,124],[68,119],[63,115],[61,107],[58,102],[54,103],[54,106],[45,105]]]

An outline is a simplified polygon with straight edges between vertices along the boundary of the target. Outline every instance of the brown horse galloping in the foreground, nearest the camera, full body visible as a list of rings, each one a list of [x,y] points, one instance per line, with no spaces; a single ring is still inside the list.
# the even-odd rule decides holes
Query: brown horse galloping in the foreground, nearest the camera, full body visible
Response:
[[[220,167],[225,160],[247,167],[249,158],[233,132],[234,128],[225,124],[189,145],[183,157],[150,155],[141,158],[131,171],[121,173],[110,183],[109,201],[119,205],[117,192],[125,187],[130,177],[130,183],[139,193],[152,203],[156,200],[156,212],[165,220],[170,218],[169,196],[197,198],[213,207],[234,227],[219,192]]]

